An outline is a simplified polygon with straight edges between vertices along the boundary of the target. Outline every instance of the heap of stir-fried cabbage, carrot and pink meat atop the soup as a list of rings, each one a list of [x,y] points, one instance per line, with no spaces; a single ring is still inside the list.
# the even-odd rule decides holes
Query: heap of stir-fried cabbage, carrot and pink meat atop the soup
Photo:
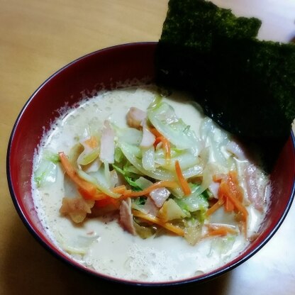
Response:
[[[228,133],[206,118],[198,137],[160,96],[147,112],[130,108],[126,119],[128,128],[105,121],[95,135],[79,140],[70,157],[45,157],[35,174],[38,185],[54,181],[60,162],[65,180],[77,187],[76,197],[62,200],[60,213],[75,223],[117,213],[133,235],[148,238],[164,230],[191,245],[247,235],[251,198],[240,185]],[[211,223],[218,210],[235,214],[235,224]]]

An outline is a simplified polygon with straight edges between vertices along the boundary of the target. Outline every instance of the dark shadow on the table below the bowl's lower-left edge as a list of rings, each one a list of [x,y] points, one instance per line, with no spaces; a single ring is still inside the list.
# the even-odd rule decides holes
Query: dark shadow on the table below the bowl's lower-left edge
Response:
[[[11,220],[14,237],[7,240],[1,275],[4,294],[227,294],[231,272],[202,284],[140,287],[106,282],[69,267],[53,257],[33,238],[17,216]],[[122,293],[123,292],[123,293]]]

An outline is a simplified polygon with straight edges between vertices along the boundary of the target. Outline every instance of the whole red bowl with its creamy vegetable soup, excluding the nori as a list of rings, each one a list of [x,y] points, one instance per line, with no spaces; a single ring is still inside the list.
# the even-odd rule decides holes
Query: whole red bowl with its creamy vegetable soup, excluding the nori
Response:
[[[294,198],[294,135],[272,171],[184,91],[155,83],[157,43],[79,58],[30,97],[7,176],[30,233],[100,279],[204,282],[272,238]]]

